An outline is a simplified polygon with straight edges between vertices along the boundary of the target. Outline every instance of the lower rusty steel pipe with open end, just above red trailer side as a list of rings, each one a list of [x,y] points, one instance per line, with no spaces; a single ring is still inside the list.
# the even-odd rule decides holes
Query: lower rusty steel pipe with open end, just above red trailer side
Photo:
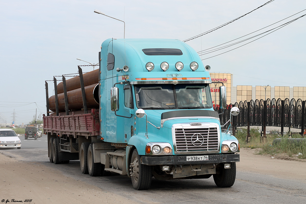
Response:
[[[99,84],[92,84],[85,87],[86,102],[88,108],[99,108]],[[80,110],[83,108],[83,99],[81,88],[67,91],[68,109]],[[49,109],[55,109],[55,95],[49,98]],[[58,110],[59,112],[65,111],[65,97],[64,93],[58,94]]]

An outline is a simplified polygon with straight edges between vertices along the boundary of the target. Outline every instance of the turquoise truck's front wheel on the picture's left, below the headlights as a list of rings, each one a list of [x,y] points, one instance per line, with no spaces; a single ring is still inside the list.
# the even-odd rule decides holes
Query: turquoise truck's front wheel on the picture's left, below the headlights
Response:
[[[140,163],[140,156],[136,149],[132,153],[130,174],[136,190],[146,190],[151,186],[152,168]]]

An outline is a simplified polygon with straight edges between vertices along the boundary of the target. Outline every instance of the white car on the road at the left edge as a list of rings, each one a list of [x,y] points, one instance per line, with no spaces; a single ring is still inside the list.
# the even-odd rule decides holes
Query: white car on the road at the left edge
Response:
[[[12,129],[0,129],[0,148],[17,147],[17,149],[20,149],[21,141],[18,136],[16,135],[16,132]]]

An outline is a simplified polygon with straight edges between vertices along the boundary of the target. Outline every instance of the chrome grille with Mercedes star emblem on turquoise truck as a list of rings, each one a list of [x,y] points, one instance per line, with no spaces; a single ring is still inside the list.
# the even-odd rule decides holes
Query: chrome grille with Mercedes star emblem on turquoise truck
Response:
[[[175,128],[175,146],[177,152],[198,152],[218,150],[217,127],[182,127]]]

